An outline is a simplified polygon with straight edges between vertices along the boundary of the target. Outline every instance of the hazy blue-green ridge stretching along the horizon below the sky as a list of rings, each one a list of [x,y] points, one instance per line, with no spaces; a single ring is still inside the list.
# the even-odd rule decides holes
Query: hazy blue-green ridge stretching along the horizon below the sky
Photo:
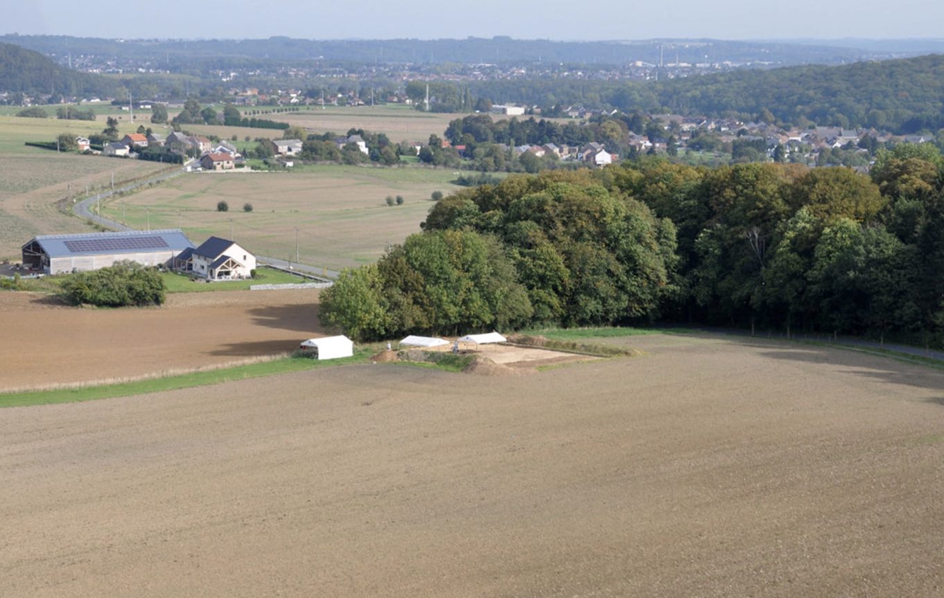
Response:
[[[0,42],[55,57],[64,64],[68,55],[134,58],[176,71],[194,59],[247,58],[293,62],[323,58],[360,63],[436,64],[566,62],[622,64],[643,60],[665,62],[724,62],[841,64],[869,58],[892,58],[880,47],[863,50],[831,46],[829,42],[733,42],[724,40],[640,40],[610,42],[555,42],[515,40],[510,37],[464,40],[300,40],[272,37],[264,40],[104,40],[68,36],[0,36]]]

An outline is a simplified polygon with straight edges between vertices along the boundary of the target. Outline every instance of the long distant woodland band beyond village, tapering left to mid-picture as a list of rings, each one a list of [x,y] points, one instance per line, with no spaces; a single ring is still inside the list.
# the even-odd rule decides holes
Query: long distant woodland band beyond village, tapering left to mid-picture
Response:
[[[548,115],[569,105],[743,120],[760,119],[767,111],[779,124],[801,127],[811,123],[875,127],[896,134],[944,128],[941,55],[744,70],[658,82],[536,79],[483,81],[466,88],[456,85],[451,91],[440,91],[444,100],[438,105],[459,111],[460,98],[471,93],[495,102],[538,106]]]

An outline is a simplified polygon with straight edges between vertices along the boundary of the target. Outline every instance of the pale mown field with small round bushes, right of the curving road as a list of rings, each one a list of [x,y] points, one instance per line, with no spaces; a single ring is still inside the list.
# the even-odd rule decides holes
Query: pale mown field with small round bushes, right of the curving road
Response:
[[[200,243],[232,236],[258,255],[340,269],[376,261],[388,243],[420,231],[432,191],[458,187],[450,170],[307,166],[286,173],[195,173],[115,199],[103,208],[135,228],[181,226]],[[387,195],[402,195],[388,206]],[[217,203],[228,211],[217,211]],[[244,211],[245,204],[252,211]]]

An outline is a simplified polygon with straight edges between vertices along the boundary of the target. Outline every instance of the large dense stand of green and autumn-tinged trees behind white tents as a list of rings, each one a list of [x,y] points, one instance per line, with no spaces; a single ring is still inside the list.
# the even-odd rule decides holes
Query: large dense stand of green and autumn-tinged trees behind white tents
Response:
[[[844,167],[643,159],[460,191],[322,295],[358,339],[639,324],[944,341],[944,159]]]

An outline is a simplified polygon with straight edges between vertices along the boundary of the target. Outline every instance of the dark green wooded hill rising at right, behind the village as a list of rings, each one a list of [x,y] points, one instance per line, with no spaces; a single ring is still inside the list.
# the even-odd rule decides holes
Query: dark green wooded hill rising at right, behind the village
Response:
[[[639,91],[639,90],[636,90]],[[874,126],[895,133],[944,128],[944,56],[738,71],[660,82],[624,93],[683,114],[756,118],[765,108],[781,122]],[[614,97],[617,108],[620,97]]]

